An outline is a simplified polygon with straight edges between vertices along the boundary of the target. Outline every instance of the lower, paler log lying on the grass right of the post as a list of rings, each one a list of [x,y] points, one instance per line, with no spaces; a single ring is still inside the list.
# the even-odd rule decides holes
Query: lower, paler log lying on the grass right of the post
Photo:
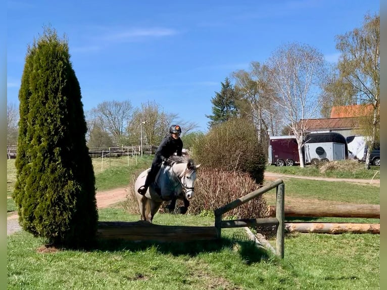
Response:
[[[323,222],[292,222],[285,223],[285,232],[315,233],[379,233],[378,223],[323,223]]]

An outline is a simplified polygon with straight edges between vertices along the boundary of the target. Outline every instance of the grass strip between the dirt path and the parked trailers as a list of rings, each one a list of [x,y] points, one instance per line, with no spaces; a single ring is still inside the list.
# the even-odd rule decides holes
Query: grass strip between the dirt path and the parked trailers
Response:
[[[337,168],[334,170],[327,170],[322,172],[321,167],[306,166],[266,166],[267,172],[282,173],[288,175],[302,175],[302,176],[319,176],[319,177],[333,177],[333,178],[358,178],[371,179],[375,175],[375,179],[380,179],[380,166],[371,166],[371,169],[364,168],[364,164],[354,162],[352,160],[336,161]]]

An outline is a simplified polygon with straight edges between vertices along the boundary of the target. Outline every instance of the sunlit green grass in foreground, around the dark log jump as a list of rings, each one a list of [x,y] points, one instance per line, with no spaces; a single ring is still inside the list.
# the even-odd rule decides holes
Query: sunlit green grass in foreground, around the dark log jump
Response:
[[[100,219],[138,217],[116,208]],[[213,219],[157,214],[154,222]],[[38,253],[42,241],[21,231],[7,237],[8,289],[378,289],[379,243],[372,234],[292,234],[279,261],[243,229],[224,229],[218,243],[100,241],[89,251]]]

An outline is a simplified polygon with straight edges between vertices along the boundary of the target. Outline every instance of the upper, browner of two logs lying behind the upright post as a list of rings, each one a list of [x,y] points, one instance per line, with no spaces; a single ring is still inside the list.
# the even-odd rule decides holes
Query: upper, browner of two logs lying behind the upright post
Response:
[[[275,217],[275,206],[269,206],[270,217]],[[285,206],[285,217],[352,217],[380,218],[380,205],[315,205]]]

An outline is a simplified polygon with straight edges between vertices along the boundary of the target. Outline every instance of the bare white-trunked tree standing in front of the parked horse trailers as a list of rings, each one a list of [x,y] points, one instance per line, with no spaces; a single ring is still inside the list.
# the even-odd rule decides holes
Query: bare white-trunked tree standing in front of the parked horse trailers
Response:
[[[320,108],[320,88],[327,72],[324,56],[309,45],[291,43],[274,52],[268,66],[272,69],[270,86],[275,92],[272,100],[294,132],[300,167],[304,167],[304,134],[308,119],[315,117]]]

